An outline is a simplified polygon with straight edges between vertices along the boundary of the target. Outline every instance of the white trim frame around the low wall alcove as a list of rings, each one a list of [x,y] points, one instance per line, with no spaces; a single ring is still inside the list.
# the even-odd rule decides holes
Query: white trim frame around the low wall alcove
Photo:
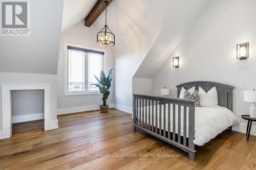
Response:
[[[12,134],[11,90],[44,90],[45,131],[58,128],[50,127],[50,85],[3,85],[2,86],[2,138],[9,138]],[[55,120],[57,122],[57,120]]]

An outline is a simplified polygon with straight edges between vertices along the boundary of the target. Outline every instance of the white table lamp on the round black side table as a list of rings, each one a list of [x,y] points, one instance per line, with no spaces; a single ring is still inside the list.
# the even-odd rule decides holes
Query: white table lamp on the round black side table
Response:
[[[251,102],[250,107],[250,117],[256,118],[256,91],[254,90],[244,90],[244,101]]]

